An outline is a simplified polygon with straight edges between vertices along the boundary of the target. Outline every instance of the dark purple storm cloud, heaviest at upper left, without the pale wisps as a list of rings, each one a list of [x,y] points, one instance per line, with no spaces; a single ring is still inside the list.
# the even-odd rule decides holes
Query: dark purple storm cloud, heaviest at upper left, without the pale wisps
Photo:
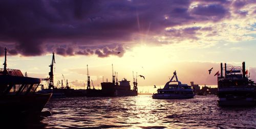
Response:
[[[38,56],[56,50],[63,56],[108,57],[116,55],[117,49],[124,53],[123,46],[136,44],[141,35],[160,35],[167,27],[194,21],[216,22],[230,15],[226,6],[231,5],[230,1],[197,1],[199,5],[190,10],[192,2],[3,0],[0,42],[12,44],[9,53],[13,55]],[[241,8],[237,3],[232,5]],[[187,31],[196,34],[193,29]]]

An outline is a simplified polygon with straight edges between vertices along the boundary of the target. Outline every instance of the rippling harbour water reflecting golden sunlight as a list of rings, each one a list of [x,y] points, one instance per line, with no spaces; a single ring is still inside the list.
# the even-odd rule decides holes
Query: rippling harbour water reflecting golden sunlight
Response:
[[[256,107],[221,108],[215,95],[191,99],[151,96],[50,100],[44,128],[255,128]]]

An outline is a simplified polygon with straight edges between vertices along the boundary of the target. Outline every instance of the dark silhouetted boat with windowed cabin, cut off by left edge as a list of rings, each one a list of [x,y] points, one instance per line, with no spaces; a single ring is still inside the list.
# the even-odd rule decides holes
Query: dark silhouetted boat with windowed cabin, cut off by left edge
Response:
[[[5,49],[7,50],[7,49]],[[36,93],[40,79],[25,77],[20,70],[0,69],[0,114],[3,116],[39,116],[52,93]]]

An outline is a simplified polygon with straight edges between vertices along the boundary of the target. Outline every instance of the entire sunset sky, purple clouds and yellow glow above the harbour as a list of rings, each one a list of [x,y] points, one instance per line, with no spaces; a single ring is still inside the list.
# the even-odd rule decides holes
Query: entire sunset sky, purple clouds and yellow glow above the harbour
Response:
[[[182,83],[216,86],[221,62],[245,61],[256,80],[255,19],[253,0],[0,1],[0,58],[7,47],[8,68],[47,78],[54,51],[55,85],[63,74],[73,88],[87,84],[87,65],[96,88],[112,64],[119,80],[144,75],[139,90],[175,70]]]

